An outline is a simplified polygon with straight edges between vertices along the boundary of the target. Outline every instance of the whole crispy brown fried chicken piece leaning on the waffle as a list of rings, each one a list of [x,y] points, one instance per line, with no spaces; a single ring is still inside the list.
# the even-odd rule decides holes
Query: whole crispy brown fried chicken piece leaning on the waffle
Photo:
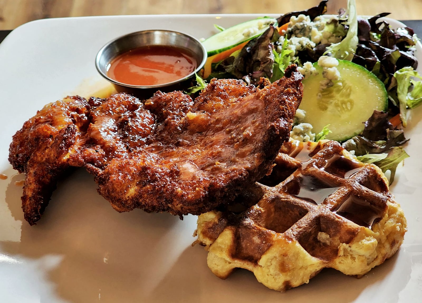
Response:
[[[36,135],[35,129],[54,125],[28,121],[11,144],[14,167],[29,177],[43,165],[42,154],[59,156],[49,162],[57,173],[44,171],[45,181],[41,176],[25,180],[25,189],[40,184],[51,189],[29,204],[22,197],[25,218],[31,225],[40,218],[55,186],[49,180],[68,166],[86,167],[98,192],[119,212],[141,208],[197,215],[230,204],[244,186],[268,172],[288,139],[302,98],[301,80],[292,65],[282,79],[262,81],[259,88],[241,80],[211,80],[195,101],[180,91],[157,92],[145,105],[127,94],[81,99],[86,118],[84,127],[76,128],[81,139],[63,145],[57,135],[48,146],[34,144],[33,161],[19,156],[26,155],[21,143]],[[67,106],[65,100],[54,105]],[[38,121],[39,114],[30,121]]]

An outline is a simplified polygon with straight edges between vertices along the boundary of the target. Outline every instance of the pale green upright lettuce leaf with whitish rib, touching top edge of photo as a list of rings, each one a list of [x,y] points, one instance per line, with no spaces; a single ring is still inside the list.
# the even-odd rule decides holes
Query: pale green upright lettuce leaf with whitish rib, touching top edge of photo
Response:
[[[345,15],[348,14],[346,25],[349,25],[346,37],[339,43],[331,44],[327,47],[325,54],[331,54],[331,56],[337,59],[352,61],[354,54],[356,53],[357,44],[359,39],[357,38],[357,13],[356,13],[356,1],[347,1],[347,10]]]

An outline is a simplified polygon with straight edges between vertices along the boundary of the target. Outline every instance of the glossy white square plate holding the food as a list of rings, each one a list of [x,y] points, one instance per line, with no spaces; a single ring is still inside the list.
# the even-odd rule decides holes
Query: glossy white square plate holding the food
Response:
[[[239,270],[223,281],[195,240],[196,217],[114,211],[83,169],[60,182],[38,225],[24,219],[8,163],[12,135],[43,105],[103,86],[94,59],[117,36],[173,29],[208,37],[257,15],[106,16],[33,21],[0,45],[0,301],[9,302],[416,302],[422,298],[422,108],[406,129],[406,165],[392,192],[408,220],[400,251],[362,279],[324,270],[279,293]],[[398,21],[387,19],[393,27]],[[422,49],[417,46],[422,62]],[[421,68],[419,68],[419,72]]]

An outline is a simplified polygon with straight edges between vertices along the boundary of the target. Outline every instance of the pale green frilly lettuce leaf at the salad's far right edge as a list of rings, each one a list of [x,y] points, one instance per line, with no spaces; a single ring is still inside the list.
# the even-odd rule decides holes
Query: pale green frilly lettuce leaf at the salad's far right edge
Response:
[[[422,80],[422,76],[413,67],[403,67],[394,73],[394,78],[397,81],[400,119],[405,127],[407,125],[407,108],[414,108],[422,102],[421,81],[415,81],[412,77]],[[413,85],[413,90],[409,92],[411,85]]]

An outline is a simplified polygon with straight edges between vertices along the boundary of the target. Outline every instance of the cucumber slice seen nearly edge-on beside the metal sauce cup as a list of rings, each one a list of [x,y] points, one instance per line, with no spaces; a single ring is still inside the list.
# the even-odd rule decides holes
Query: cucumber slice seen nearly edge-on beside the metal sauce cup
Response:
[[[246,21],[216,33],[202,44],[208,52],[208,57],[210,57],[262,35],[271,23],[276,26],[277,19],[262,17]]]

